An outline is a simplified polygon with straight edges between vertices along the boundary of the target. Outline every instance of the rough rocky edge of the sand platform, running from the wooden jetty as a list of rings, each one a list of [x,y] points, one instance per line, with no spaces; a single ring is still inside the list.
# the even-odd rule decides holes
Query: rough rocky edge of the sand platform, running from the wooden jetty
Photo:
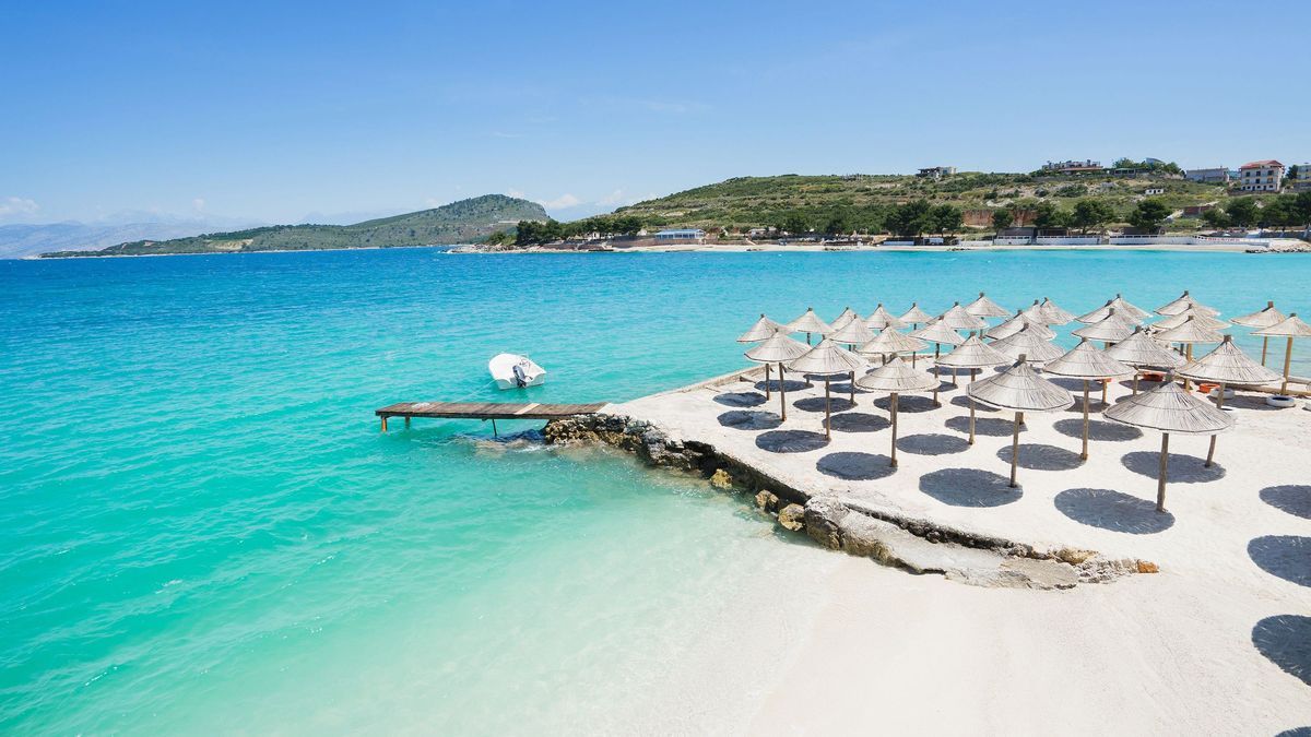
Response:
[[[1146,560],[1109,559],[1067,547],[1040,549],[928,519],[878,514],[834,494],[792,488],[708,443],[670,438],[650,422],[619,414],[552,420],[541,434],[549,445],[607,445],[653,467],[696,473],[725,492],[754,494],[755,506],[785,530],[804,532],[825,548],[911,573],[937,573],[981,586],[1068,589],[1158,570]]]

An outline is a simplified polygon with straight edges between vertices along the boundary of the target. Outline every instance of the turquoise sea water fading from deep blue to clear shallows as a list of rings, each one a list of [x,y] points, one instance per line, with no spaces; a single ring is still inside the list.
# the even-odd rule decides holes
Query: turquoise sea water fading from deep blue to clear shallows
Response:
[[[768,591],[822,553],[696,480],[476,422],[382,435],[374,408],[510,399],[499,350],[551,370],[536,400],[631,399],[741,366],[762,309],[1190,289],[1307,313],[1308,277],[1080,252],[0,261],[0,732],[617,729],[713,673],[730,603],[800,606]]]

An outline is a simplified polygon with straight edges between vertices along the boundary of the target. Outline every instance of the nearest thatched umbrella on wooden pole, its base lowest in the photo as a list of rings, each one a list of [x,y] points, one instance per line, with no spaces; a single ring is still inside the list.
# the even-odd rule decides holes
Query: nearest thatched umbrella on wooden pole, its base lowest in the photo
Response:
[[[1173,376],[1103,412],[1106,420],[1134,428],[1160,430],[1160,472],[1156,480],[1156,511],[1165,511],[1165,479],[1169,476],[1169,435],[1214,435],[1234,426],[1234,418],[1211,403],[1179,388]]]

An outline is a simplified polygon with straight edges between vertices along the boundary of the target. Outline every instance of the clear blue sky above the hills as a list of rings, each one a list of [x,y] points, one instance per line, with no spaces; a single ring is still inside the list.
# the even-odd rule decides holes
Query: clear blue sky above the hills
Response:
[[[8,4],[0,223],[1311,159],[1306,0],[270,5]]]

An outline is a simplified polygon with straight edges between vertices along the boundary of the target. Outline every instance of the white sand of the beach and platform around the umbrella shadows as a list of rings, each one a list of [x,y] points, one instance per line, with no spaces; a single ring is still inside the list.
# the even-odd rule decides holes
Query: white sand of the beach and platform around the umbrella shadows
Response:
[[[1303,573],[1274,574],[1248,552],[1252,540],[1266,535],[1311,539],[1311,521],[1260,498],[1268,487],[1311,483],[1306,455],[1311,412],[1269,410],[1261,397],[1240,395],[1232,403],[1238,429],[1219,438],[1223,475],[1217,477],[1198,476],[1207,438],[1173,437],[1171,451],[1193,458],[1172,466],[1180,481],[1169,488],[1168,525],[1151,511],[1155,480],[1141,472],[1154,467],[1156,433],[1093,441],[1091,459],[1074,468],[1021,467],[1019,497],[996,506],[961,506],[962,500],[990,502],[995,500],[987,494],[1007,492],[933,481],[932,473],[973,469],[1004,479],[1011,438],[999,420],[1012,417],[981,412],[981,420],[995,425],[988,430],[1004,435],[981,434],[973,447],[962,448],[968,410],[950,400],[964,393],[965,380],[961,389],[943,395],[943,408],[901,414],[899,434],[909,441],[898,452],[901,468],[873,480],[844,480],[825,468],[873,471],[874,462],[886,460],[869,458],[886,456],[886,428],[834,431],[825,447],[773,452],[756,445],[771,430],[721,425],[718,418],[728,412],[777,412],[777,393],[762,407],[714,401],[729,392],[754,391],[749,383],[669,392],[612,408],[650,420],[674,437],[709,442],[796,488],[838,493],[853,506],[1040,548],[1092,548],[1162,567],[1159,574],[1113,584],[1030,591],[966,586],[843,559],[842,565],[817,572],[827,577],[829,597],[814,602],[813,624],[796,637],[788,665],[764,674],[772,681],[772,696],[760,702],[750,732],[1269,734],[1311,724],[1311,687],[1252,641],[1253,627],[1266,616],[1311,615],[1311,588],[1304,578],[1290,580]],[[1112,397],[1117,393],[1127,389],[1116,386]],[[822,384],[789,392],[788,400],[791,405],[815,396],[822,396]],[[857,395],[851,412],[886,418],[886,410],[871,404],[874,399],[882,404],[881,397]],[[1062,451],[1076,454],[1080,441],[1058,431],[1054,422],[1076,421],[1078,407],[1029,414],[1021,462],[1027,455],[1058,466],[1068,462]],[[780,429],[822,433],[822,408],[789,407]],[[939,454],[905,450],[916,443]],[[834,466],[835,452],[860,455],[838,456],[850,466]],[[1101,500],[1072,492],[1086,488],[1139,502],[1112,513]],[[1061,498],[1079,502],[1067,505],[1068,514],[1057,505],[1063,492]],[[1104,511],[1108,515],[1099,518]]]

